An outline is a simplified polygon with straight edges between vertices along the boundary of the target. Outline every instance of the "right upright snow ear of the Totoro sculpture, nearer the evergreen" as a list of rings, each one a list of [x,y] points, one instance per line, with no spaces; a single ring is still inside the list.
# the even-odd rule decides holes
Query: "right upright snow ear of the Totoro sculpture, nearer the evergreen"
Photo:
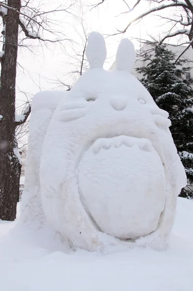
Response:
[[[128,38],[123,38],[116,53],[117,69],[120,71],[130,71],[135,64],[135,48]]]

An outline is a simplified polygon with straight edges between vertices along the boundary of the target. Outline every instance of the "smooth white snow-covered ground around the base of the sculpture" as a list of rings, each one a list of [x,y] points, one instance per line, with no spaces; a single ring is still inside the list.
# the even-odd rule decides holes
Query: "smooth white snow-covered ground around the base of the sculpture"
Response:
[[[0,222],[0,291],[193,291],[193,201],[178,198],[170,248],[70,252],[48,230]]]

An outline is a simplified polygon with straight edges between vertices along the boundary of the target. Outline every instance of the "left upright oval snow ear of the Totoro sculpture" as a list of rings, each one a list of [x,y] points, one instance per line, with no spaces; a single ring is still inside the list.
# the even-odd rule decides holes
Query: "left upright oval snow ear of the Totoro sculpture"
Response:
[[[86,57],[90,68],[102,68],[107,56],[105,40],[102,34],[91,32],[88,36]]]

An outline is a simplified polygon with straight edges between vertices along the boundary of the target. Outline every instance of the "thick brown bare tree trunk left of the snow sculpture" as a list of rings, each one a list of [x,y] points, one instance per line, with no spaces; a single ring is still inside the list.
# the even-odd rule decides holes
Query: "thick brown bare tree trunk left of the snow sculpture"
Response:
[[[15,137],[16,60],[20,0],[8,0],[5,50],[0,74],[0,219],[13,221],[19,195],[21,164]],[[16,11],[17,10],[17,11]]]

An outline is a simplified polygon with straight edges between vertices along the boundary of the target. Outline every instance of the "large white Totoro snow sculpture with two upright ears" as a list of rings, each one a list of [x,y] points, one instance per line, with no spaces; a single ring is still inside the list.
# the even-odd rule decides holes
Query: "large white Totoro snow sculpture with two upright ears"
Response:
[[[130,74],[135,50],[128,39],[113,71],[103,69],[101,34],[89,35],[86,55],[90,69],[55,106],[44,139],[46,219],[71,245],[90,251],[134,242],[165,249],[186,185],[168,113]]]

